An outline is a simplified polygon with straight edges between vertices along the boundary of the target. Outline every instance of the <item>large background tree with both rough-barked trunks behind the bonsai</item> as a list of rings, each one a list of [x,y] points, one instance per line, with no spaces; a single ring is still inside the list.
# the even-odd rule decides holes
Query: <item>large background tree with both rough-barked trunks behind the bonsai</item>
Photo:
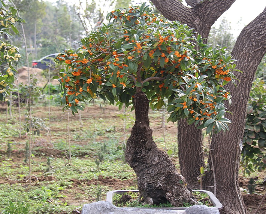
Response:
[[[235,0],[226,1],[186,1],[190,7],[184,6],[180,1],[162,1],[151,0],[156,8],[168,19],[179,20],[181,23],[187,23],[195,28],[204,38],[207,38],[213,23],[235,2]],[[213,12],[215,11],[215,13]],[[233,121],[230,133],[235,136],[232,139],[229,135],[219,134],[219,137],[214,136],[211,144],[213,153],[214,165],[210,167],[216,172],[216,183],[213,180],[213,170],[205,176],[205,186],[216,186],[216,195],[223,203],[224,208],[222,213],[246,213],[242,196],[237,181],[237,173],[240,159],[239,144],[242,141],[244,122],[246,117],[246,105],[251,88],[251,82],[254,79],[254,74],[265,54],[265,13],[264,10],[251,24],[246,26],[240,33],[237,43],[234,46],[232,55],[238,60],[237,68],[242,70],[245,75],[237,74],[240,79],[240,84],[237,89],[230,87],[232,95],[235,96],[235,104],[230,107],[233,116],[230,118]],[[254,31],[254,32],[253,32]],[[252,35],[252,36],[250,36]],[[245,38],[245,39],[244,39]],[[246,44],[252,44],[252,49],[248,48],[243,52],[243,47]],[[244,54],[245,53],[245,54]],[[251,61],[250,61],[251,60]],[[239,93],[241,91],[241,93]],[[239,120],[237,120],[239,118]],[[199,174],[199,166],[204,166],[202,149],[201,149],[201,132],[195,130],[193,126],[185,126],[186,122],[178,123],[178,145],[180,169],[182,174],[189,179],[188,183],[196,186],[196,175]],[[181,125],[181,126],[180,126]],[[193,134],[192,134],[193,133]],[[191,137],[193,136],[193,138]],[[195,145],[196,142],[197,144]],[[221,143],[223,142],[223,143]],[[184,150],[186,149],[186,150]],[[227,154],[228,159],[223,159]],[[181,167],[186,159],[196,157],[198,163],[191,163],[191,166]],[[194,158],[195,159],[195,158]],[[226,181],[225,182],[225,178]],[[235,199],[235,200],[234,200]]]

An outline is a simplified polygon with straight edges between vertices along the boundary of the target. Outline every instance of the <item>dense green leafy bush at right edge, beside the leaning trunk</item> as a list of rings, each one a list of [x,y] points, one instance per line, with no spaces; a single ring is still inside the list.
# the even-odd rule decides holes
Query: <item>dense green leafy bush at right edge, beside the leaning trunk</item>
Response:
[[[250,174],[266,167],[266,86],[261,79],[253,82],[247,107],[241,164]]]

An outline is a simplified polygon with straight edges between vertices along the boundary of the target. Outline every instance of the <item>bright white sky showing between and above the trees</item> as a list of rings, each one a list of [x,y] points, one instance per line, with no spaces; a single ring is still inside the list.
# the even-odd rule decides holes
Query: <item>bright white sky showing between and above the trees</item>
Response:
[[[46,1],[55,2],[55,0]],[[83,1],[85,0],[81,0],[81,2]],[[72,4],[76,2],[78,4],[79,0],[65,0],[65,2]],[[148,0],[134,0],[134,2],[148,2]],[[237,37],[244,26],[255,19],[255,17],[257,17],[265,7],[266,0],[236,0],[234,4],[227,11],[225,11],[224,14],[222,14],[222,16],[216,21],[216,23],[214,23],[214,25],[218,27],[222,18],[225,17],[225,19],[231,23],[231,28],[233,29],[234,36]]]

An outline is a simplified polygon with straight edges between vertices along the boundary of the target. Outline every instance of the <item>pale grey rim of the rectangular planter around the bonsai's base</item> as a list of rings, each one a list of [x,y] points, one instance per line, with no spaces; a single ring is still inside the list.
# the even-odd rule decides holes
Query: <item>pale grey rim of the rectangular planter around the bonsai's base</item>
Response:
[[[207,190],[192,190],[192,191],[198,191],[198,192],[204,192],[206,194],[209,195],[210,197],[210,201],[213,203],[213,207],[217,208],[217,209],[222,209],[222,204],[219,202],[219,200],[214,196],[214,194],[210,191]],[[106,195],[106,201],[110,202],[111,204],[113,204],[113,196],[115,194],[124,194],[126,192],[138,192],[137,189],[134,190],[114,190],[114,191],[109,191],[107,192]],[[130,209],[132,209],[133,207],[130,207]],[[185,210],[186,207],[151,207],[151,208],[147,208],[147,207],[136,207],[137,209],[171,209],[171,210]],[[125,209],[125,207],[123,208]]]

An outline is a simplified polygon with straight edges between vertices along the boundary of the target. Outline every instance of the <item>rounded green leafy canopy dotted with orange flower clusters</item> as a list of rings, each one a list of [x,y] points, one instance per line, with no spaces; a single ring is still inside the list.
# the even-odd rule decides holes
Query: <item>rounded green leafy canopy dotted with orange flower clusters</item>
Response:
[[[80,101],[96,97],[128,107],[142,91],[152,109],[168,107],[168,121],[202,121],[207,133],[228,129],[224,85],[234,83],[235,65],[224,48],[204,44],[193,29],[157,17],[145,3],[112,11],[107,20],[79,42],[82,47],[56,59],[67,65],[59,79],[64,109],[77,113],[85,108]]]

